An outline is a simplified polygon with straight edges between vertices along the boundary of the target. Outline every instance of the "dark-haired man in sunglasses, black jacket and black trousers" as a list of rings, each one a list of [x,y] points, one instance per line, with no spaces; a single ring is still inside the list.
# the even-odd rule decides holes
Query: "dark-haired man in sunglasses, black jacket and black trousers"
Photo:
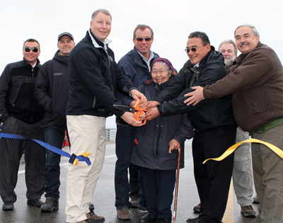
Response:
[[[205,33],[189,35],[185,49],[189,60],[175,75],[166,89],[162,90],[155,102],[149,102],[146,119],[158,115],[187,113],[195,129],[192,140],[195,182],[200,196],[201,214],[187,222],[221,222],[226,210],[231,176],[233,155],[227,160],[215,162],[205,159],[221,156],[235,144],[236,121],[233,117],[232,97],[206,100],[197,106],[187,106],[184,95],[192,91],[192,86],[205,86],[215,83],[226,76],[224,56],[210,45]]]

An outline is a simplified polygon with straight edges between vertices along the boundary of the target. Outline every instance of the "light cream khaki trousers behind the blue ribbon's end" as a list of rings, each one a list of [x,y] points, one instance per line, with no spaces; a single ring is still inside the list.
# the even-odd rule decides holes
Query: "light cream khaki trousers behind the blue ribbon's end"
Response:
[[[96,183],[100,177],[105,156],[105,118],[93,115],[67,115],[71,154],[89,152],[91,166],[79,161],[69,164],[67,175],[67,222],[80,222],[89,212]]]

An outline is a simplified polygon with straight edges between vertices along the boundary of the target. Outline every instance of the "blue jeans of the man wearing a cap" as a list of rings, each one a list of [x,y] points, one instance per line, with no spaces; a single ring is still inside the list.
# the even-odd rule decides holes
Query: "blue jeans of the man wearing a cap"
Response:
[[[62,149],[64,142],[65,126],[54,126],[45,128],[45,142]],[[53,151],[46,150],[46,164],[44,171],[45,179],[45,198],[54,198],[59,200],[59,186],[60,186],[60,160],[61,155]]]

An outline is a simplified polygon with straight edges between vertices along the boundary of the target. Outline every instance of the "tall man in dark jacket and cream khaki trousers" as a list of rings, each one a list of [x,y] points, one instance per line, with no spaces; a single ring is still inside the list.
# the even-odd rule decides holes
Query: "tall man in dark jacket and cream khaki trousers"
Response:
[[[67,101],[67,127],[71,153],[88,152],[91,165],[79,162],[69,165],[67,176],[67,222],[104,222],[91,212],[96,182],[102,171],[105,155],[105,120],[114,114],[134,126],[142,123],[133,113],[113,107],[120,103],[115,92],[129,93],[134,99],[146,102],[142,93],[132,86],[117,69],[114,53],[107,39],[112,18],[109,11],[99,9],[91,18],[91,28],[69,55],[69,95]],[[98,202],[98,201],[97,201]]]

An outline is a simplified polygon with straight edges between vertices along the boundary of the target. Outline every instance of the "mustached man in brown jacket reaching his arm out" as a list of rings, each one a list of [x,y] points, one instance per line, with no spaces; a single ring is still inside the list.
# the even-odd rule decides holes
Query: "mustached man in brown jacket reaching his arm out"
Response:
[[[236,66],[215,84],[195,86],[195,91],[186,95],[190,97],[185,98],[184,103],[197,106],[202,100],[233,93],[233,112],[238,125],[253,139],[282,150],[282,63],[274,50],[260,42],[258,30],[253,25],[238,26],[234,38],[241,52]],[[251,151],[255,191],[260,202],[256,222],[282,222],[283,160],[264,144],[252,143]]]

